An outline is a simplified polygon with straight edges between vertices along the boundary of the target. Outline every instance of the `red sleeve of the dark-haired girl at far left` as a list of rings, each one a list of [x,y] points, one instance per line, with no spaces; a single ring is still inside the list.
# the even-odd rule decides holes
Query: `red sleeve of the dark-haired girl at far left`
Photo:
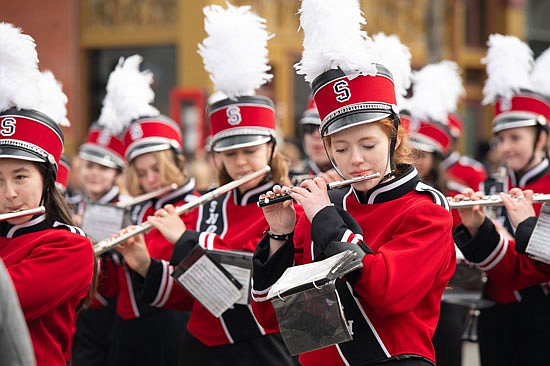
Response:
[[[8,268],[27,321],[80,301],[92,281],[95,259],[90,240],[65,230],[51,231],[56,233]]]

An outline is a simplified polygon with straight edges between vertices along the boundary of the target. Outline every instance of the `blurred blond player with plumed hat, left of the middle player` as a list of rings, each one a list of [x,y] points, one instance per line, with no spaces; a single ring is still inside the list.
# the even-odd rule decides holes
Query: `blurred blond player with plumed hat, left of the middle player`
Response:
[[[139,55],[121,58],[111,73],[98,123],[113,134],[123,133],[126,190],[131,196],[176,183],[164,196],[131,208],[132,221],[141,223],[166,204],[182,205],[195,197],[194,179],[184,173],[182,137],[178,125],[150,103],[153,75],[140,71]],[[173,245],[158,230],[145,235],[155,257],[168,259]],[[114,257],[115,261],[119,257]],[[113,325],[113,365],[174,365],[185,329],[184,313],[158,309],[140,300],[131,280],[135,275],[124,261],[117,267],[117,315]]]

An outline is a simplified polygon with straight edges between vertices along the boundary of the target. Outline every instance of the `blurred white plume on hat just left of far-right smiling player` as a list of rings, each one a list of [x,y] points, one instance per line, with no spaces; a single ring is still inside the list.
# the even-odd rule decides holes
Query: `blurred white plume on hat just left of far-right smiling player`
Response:
[[[465,94],[460,67],[453,61],[424,66],[413,73],[413,96],[407,102],[411,116],[447,124]]]

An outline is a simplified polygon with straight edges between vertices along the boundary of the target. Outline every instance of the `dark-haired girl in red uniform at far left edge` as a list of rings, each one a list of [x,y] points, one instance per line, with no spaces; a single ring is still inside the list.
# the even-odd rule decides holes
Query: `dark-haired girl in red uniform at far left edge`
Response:
[[[95,262],[90,240],[71,225],[55,186],[63,150],[57,123],[68,125],[67,99],[51,73],[41,77],[31,37],[7,23],[0,23],[0,34],[0,213],[46,208],[0,223],[0,257],[19,296],[37,365],[65,365]]]

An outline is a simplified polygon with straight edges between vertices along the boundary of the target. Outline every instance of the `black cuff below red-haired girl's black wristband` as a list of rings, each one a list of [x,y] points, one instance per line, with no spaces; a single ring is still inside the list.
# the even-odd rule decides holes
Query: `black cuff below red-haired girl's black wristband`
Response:
[[[284,271],[294,264],[294,245],[286,241],[279,250],[269,256],[269,237],[266,235],[256,246],[253,257],[253,280],[255,290],[265,290],[272,286],[283,275]]]

